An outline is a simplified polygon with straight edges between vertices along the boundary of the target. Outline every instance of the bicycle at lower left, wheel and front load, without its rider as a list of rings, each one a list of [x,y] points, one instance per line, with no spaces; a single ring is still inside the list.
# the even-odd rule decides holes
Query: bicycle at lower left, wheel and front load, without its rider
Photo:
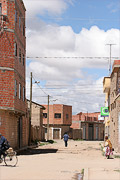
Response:
[[[18,163],[18,158],[17,154],[15,151],[9,151],[6,150],[2,155],[1,155],[1,160],[0,163],[4,161],[6,166],[12,166],[15,167]]]

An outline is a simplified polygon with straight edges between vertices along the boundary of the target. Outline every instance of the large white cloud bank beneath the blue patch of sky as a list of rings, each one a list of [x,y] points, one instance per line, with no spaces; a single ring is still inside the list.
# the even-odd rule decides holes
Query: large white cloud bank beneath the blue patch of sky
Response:
[[[107,69],[108,60],[54,57],[109,56],[109,46],[105,44],[119,44],[120,31],[111,29],[105,32],[93,26],[90,30],[83,28],[76,34],[70,26],[42,25],[42,28],[27,32],[27,55],[42,57],[30,61],[27,77],[32,71],[37,80],[45,81],[46,86],[41,84],[45,88],[43,90],[53,99],[58,99],[55,103],[72,105],[74,113],[80,110],[100,111],[104,105],[103,77],[97,78],[94,72],[90,76],[82,68]],[[112,56],[119,56],[119,45],[112,48]],[[40,96],[46,94],[38,87],[33,91],[34,101],[47,103],[47,97]]]

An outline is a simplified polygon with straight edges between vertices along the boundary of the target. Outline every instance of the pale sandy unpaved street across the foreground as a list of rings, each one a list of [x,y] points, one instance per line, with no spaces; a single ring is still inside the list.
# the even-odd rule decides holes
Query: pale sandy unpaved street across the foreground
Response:
[[[105,159],[99,143],[69,140],[65,148],[59,140],[41,146],[33,151],[36,154],[18,156],[17,167],[0,164],[0,180],[72,180],[82,169],[87,180],[120,180],[120,160]]]

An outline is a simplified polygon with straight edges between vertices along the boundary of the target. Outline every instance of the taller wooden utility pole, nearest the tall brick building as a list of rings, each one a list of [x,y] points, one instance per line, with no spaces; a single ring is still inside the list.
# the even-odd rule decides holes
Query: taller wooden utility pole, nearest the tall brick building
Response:
[[[32,115],[32,72],[30,73],[29,145],[31,144],[31,115]]]

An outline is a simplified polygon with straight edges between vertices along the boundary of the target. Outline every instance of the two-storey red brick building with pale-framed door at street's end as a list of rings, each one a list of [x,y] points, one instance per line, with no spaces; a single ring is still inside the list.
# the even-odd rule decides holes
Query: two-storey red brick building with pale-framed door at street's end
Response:
[[[47,111],[48,105],[43,105],[43,125],[47,133]],[[49,105],[49,139],[61,139],[65,132],[70,131],[72,124],[72,106],[63,104]],[[47,134],[45,134],[47,138]]]

